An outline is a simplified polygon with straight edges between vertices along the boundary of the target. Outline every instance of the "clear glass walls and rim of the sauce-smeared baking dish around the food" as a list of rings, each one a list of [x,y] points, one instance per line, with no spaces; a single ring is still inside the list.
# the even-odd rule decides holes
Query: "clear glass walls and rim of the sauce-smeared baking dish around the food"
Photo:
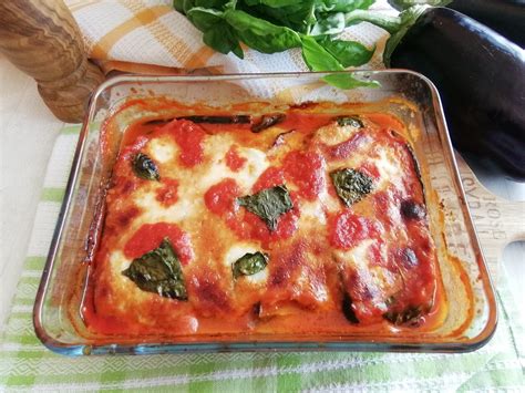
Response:
[[[80,134],[73,166],[37,294],[33,322],[49,349],[69,355],[206,351],[364,350],[463,352],[485,344],[496,327],[488,272],[465,203],[452,146],[434,85],[403,70],[359,71],[381,87],[342,91],[323,82],[326,73],[220,76],[120,76],[94,93]],[[224,108],[250,102],[354,103],[359,111],[383,111],[401,120],[422,168],[431,231],[447,299],[444,322],[432,331],[390,333],[358,329],[353,334],[297,337],[102,337],[82,321],[83,301],[101,206],[121,137],[141,118],[169,118],[173,110],[156,99]],[[128,105],[133,100],[135,104]],[[138,100],[138,101],[137,101]],[[136,103],[140,104],[136,104]],[[145,104],[141,104],[141,102]]]

